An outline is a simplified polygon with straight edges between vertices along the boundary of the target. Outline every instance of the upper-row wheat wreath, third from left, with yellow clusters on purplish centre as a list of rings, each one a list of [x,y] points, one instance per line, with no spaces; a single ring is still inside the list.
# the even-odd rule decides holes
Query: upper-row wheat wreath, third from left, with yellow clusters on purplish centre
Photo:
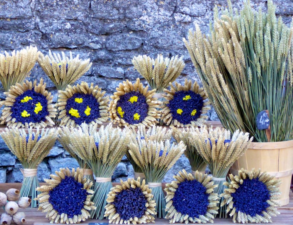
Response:
[[[136,79],[132,84],[129,80],[123,81],[116,88],[116,92],[111,96],[113,99],[109,105],[110,118],[119,126],[137,127],[144,125],[149,127],[157,123],[160,114],[160,101],[155,101],[153,97],[156,90],[148,91],[148,86]]]

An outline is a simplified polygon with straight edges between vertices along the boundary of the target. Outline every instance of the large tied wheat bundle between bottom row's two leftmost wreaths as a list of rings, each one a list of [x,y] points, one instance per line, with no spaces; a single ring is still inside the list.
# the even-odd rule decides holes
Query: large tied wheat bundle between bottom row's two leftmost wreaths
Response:
[[[91,218],[103,219],[107,194],[112,188],[111,176],[126,153],[129,134],[112,124],[101,126],[99,131],[94,125],[82,124],[78,129],[65,129],[62,135],[67,138],[68,148],[93,170],[96,183],[92,201],[96,210],[91,211]]]

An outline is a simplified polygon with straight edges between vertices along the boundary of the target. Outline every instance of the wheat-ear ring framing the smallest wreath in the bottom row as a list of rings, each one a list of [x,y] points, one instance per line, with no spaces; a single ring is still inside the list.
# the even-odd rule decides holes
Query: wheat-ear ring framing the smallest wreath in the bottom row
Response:
[[[140,177],[137,178],[137,180],[134,179],[128,179],[127,181],[120,180],[121,185],[116,185],[115,187],[111,188],[111,191],[108,193],[107,203],[105,207],[105,217],[108,217],[109,223],[113,224],[145,224],[145,223],[154,223],[154,214],[155,212],[155,206],[156,202],[153,200],[153,195],[151,194],[151,189],[149,186],[145,183],[145,180],[142,180],[142,183],[140,183]],[[117,212],[115,208],[115,204],[113,202],[115,201],[115,197],[121,193],[123,190],[129,190],[130,188],[139,188],[141,189],[141,192],[143,193],[144,198],[146,199],[147,203],[145,205],[146,209],[144,211],[144,215],[140,218],[134,217],[130,218],[128,220],[122,219],[120,214]],[[138,201],[138,199],[130,199],[130,201]]]

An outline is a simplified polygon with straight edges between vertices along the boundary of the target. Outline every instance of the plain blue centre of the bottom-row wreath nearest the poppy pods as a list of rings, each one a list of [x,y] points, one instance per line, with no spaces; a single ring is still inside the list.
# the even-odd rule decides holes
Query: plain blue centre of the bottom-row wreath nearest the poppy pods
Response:
[[[59,214],[66,213],[68,218],[81,214],[86,200],[84,185],[74,180],[72,176],[66,176],[60,184],[49,191],[49,202]]]

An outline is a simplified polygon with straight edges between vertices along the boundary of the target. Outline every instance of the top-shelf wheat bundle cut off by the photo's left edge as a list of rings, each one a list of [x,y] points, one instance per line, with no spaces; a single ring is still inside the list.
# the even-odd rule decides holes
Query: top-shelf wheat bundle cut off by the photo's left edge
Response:
[[[35,66],[39,52],[37,47],[29,46],[20,51],[15,50],[0,54],[0,81],[7,92],[16,83],[23,83],[25,77]]]

